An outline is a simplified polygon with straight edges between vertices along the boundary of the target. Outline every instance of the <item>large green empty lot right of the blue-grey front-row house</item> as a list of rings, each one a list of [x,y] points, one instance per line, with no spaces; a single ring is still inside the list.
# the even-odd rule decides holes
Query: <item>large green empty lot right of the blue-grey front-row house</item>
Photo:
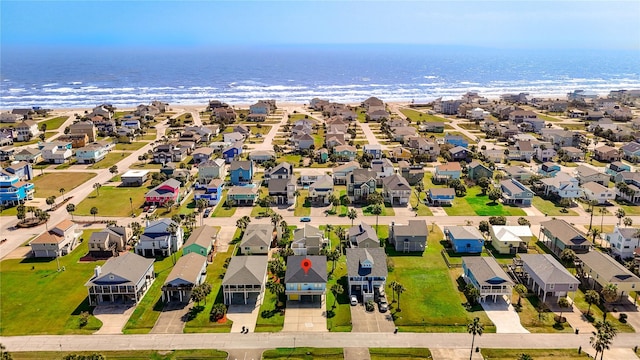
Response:
[[[402,311],[397,310],[398,299],[393,301],[391,290],[387,294],[395,324],[402,331],[465,332],[466,324],[478,316],[485,331],[495,331],[482,310],[469,312],[464,308],[466,300],[457,290],[457,276],[449,271],[440,255],[444,235],[438,228],[429,230],[428,246],[422,254],[405,255],[387,247],[395,267],[387,282],[399,282],[407,289],[400,298]]]

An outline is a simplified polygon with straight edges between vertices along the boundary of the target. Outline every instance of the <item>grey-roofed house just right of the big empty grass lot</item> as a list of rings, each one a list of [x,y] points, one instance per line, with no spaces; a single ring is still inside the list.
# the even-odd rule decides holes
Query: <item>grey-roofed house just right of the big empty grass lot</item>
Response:
[[[480,301],[484,302],[493,296],[507,297],[510,302],[514,282],[507,275],[495,258],[487,256],[465,256],[462,258],[462,277],[467,284],[473,285],[480,293]]]

